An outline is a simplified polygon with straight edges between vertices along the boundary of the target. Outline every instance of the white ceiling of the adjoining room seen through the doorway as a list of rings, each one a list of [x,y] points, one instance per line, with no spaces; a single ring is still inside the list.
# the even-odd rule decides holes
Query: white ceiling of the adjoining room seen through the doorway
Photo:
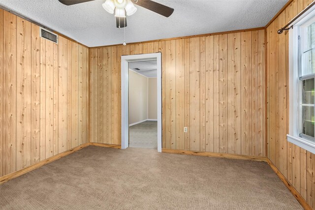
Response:
[[[142,74],[145,77],[157,77],[157,60],[129,62],[129,69]],[[135,68],[139,68],[137,70]]]

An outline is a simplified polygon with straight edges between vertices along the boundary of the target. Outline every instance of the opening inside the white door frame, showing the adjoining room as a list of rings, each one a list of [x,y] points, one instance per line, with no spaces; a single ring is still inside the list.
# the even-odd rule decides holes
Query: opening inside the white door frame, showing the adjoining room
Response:
[[[157,60],[129,62],[129,147],[158,149]]]

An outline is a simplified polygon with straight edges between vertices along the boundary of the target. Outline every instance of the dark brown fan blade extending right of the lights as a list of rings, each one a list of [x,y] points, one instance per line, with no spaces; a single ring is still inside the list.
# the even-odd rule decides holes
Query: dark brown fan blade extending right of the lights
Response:
[[[138,1],[133,0],[133,2],[139,6],[142,6],[146,9],[149,9],[165,17],[171,16],[171,14],[173,14],[174,12],[173,8],[157,3],[152,0],[138,0]]]

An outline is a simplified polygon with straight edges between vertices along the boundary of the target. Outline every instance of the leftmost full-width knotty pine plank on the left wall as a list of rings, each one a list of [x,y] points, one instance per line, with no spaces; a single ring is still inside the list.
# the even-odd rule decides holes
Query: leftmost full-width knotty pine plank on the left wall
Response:
[[[3,11],[3,175],[16,171],[16,16]]]

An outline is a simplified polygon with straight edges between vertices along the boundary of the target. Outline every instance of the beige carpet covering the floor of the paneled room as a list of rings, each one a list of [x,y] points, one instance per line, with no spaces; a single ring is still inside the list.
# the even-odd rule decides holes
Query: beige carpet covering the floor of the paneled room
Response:
[[[299,210],[267,163],[88,147],[0,185],[1,210]]]

